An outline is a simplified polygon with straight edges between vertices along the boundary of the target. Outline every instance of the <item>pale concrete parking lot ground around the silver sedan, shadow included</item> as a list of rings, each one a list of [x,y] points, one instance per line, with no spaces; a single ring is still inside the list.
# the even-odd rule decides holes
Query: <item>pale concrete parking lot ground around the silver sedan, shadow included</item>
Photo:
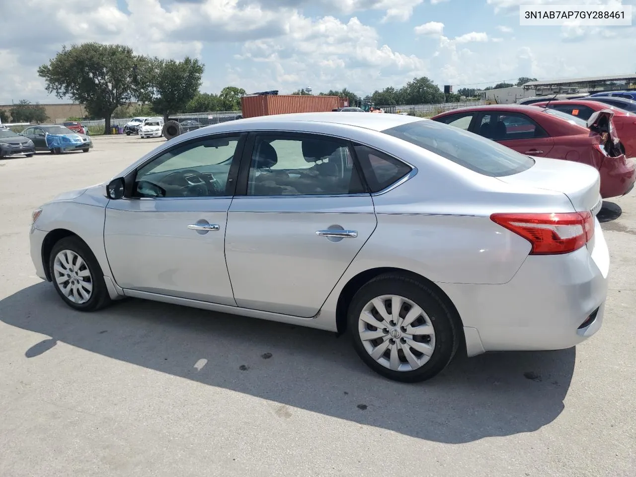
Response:
[[[597,335],[408,385],[345,336],[133,299],[67,307],[35,275],[32,209],[164,140],[93,141],[0,160],[0,476],[636,475],[636,193],[600,214]]]

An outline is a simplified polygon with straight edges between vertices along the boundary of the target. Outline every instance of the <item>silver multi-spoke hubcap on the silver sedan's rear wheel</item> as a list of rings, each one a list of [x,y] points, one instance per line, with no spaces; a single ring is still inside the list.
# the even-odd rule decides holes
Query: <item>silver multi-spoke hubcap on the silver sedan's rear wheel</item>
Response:
[[[382,295],[369,301],[360,314],[358,333],[369,355],[393,371],[417,370],[435,349],[431,319],[403,296]]]

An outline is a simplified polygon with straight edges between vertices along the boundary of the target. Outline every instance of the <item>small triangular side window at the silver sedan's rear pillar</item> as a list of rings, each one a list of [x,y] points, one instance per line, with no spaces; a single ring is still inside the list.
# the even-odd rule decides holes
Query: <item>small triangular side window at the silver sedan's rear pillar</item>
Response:
[[[380,151],[367,146],[356,146],[355,149],[371,193],[386,189],[411,172],[410,165]]]

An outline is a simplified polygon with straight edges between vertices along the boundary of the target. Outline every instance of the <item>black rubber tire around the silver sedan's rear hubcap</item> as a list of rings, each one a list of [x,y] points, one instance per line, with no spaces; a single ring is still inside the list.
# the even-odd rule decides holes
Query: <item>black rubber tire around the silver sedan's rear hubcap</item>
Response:
[[[434,328],[435,345],[432,355],[429,361],[415,370],[391,370],[378,363],[364,348],[358,332],[359,316],[367,303],[382,295],[397,295],[413,301],[428,315]],[[399,273],[379,275],[361,287],[349,305],[347,321],[347,328],[358,356],[373,371],[395,381],[413,383],[431,379],[448,366],[459,346],[457,321],[444,301],[429,286]]]

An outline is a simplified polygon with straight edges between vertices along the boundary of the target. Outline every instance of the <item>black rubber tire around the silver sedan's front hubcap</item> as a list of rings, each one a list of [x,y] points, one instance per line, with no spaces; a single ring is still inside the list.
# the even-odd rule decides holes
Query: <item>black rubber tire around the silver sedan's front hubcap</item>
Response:
[[[83,259],[88,271],[90,272],[90,277],[92,279],[92,294],[85,303],[74,303],[71,301],[67,298],[66,294],[62,292],[62,289],[60,289],[60,285],[57,282],[55,257],[63,250],[69,250],[78,254],[79,257]],[[99,266],[95,255],[93,255],[93,252],[90,251],[88,245],[86,245],[83,240],[79,239],[79,237],[64,237],[64,239],[60,239],[55,245],[53,245],[53,249],[51,250],[51,254],[48,258],[48,266],[51,272],[55,291],[57,291],[62,298],[62,301],[69,305],[69,307],[82,312],[93,312],[100,308],[104,308],[111,303],[111,297],[108,294],[106,282],[104,282],[104,273],[102,272],[102,268]]]

